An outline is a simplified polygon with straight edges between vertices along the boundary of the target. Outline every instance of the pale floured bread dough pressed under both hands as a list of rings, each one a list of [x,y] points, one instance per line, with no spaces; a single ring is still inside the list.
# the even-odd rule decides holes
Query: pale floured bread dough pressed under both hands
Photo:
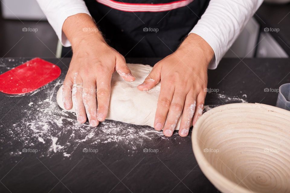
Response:
[[[151,72],[152,67],[143,64],[127,65],[136,80],[134,82],[127,82],[117,72],[113,73],[109,112],[106,119],[154,127],[160,82],[149,91],[140,91],[137,86],[143,83],[144,79]],[[56,100],[58,105],[64,109],[62,88],[63,86],[58,90]],[[75,112],[74,105],[69,111]],[[177,121],[175,130],[179,130],[180,119],[181,116]]]

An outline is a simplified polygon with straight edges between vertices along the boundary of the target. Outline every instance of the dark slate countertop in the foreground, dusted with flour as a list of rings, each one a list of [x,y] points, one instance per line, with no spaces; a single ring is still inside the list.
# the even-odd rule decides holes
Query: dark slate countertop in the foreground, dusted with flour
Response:
[[[4,58],[0,73],[27,60]],[[0,93],[0,192],[218,192],[197,165],[191,132],[167,138],[151,127],[117,121],[96,128],[77,124],[74,114],[56,105],[70,59],[46,60],[62,69],[58,79],[21,96]],[[223,59],[208,77],[208,88],[217,93],[208,93],[205,105],[276,105],[278,94],[264,89],[290,82],[290,60]]]

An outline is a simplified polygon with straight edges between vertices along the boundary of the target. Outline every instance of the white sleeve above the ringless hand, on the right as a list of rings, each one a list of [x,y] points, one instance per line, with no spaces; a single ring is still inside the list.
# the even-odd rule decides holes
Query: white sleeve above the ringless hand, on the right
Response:
[[[209,69],[215,69],[263,0],[211,0],[189,33],[201,36],[214,50]]]

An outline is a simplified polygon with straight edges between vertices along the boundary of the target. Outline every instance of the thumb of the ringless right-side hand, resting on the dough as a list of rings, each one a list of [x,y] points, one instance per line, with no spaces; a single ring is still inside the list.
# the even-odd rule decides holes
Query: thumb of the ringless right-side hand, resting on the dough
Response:
[[[150,74],[144,80],[144,82],[138,85],[137,88],[140,91],[150,90],[160,81],[160,77],[161,77],[161,67],[159,67],[159,65],[155,65]]]

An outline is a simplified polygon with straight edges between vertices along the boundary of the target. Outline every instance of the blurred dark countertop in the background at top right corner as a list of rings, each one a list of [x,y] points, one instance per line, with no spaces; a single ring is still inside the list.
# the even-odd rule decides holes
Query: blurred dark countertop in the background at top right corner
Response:
[[[279,28],[279,32],[269,33],[290,56],[290,3],[263,3],[254,16],[261,25],[261,31],[264,31],[265,27]]]

